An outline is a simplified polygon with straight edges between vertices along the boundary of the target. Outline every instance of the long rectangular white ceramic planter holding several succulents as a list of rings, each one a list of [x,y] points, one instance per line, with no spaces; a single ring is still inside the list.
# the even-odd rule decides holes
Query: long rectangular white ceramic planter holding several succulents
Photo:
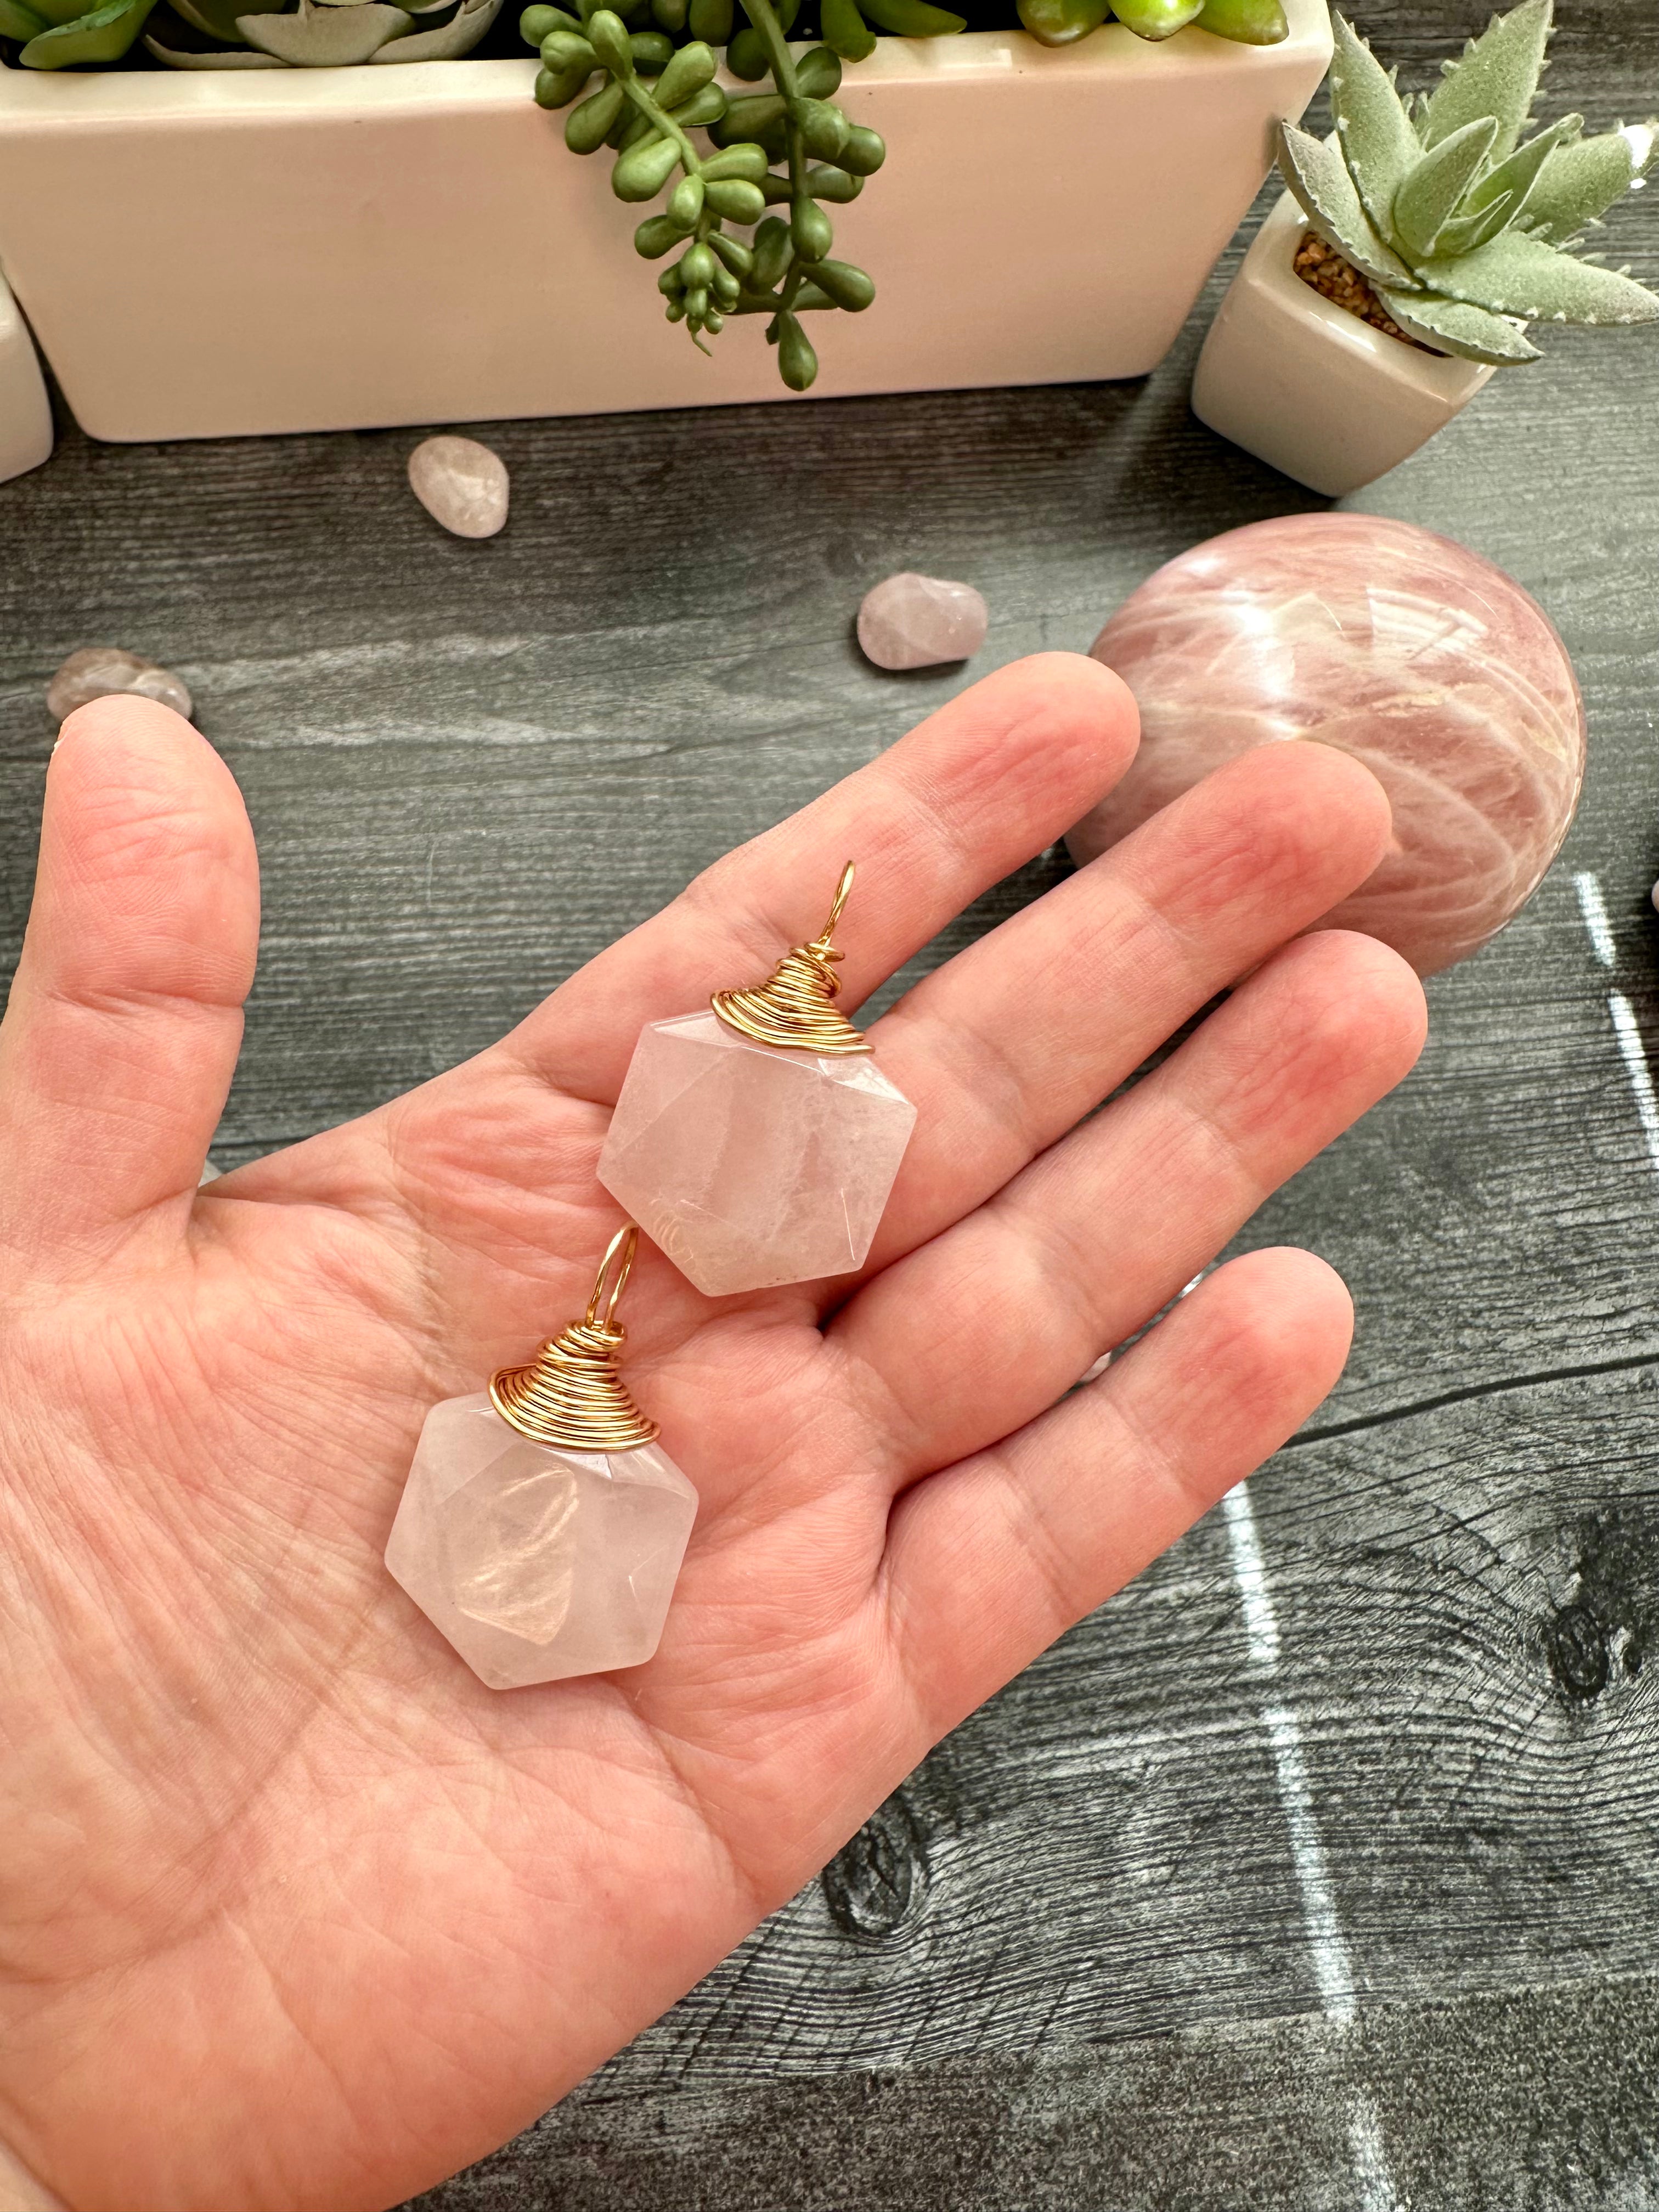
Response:
[[[814,316],[814,396],[1139,376],[1325,73],[1113,24],[880,40],[841,100],[889,144],[836,208],[876,279]],[[458,422],[783,398],[759,319],[703,361],[533,60],[226,73],[0,71],[0,268],[97,438]]]

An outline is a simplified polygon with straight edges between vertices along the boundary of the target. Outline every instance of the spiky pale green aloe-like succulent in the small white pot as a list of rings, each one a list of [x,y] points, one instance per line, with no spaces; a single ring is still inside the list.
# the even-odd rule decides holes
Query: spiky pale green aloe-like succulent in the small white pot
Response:
[[[1564,115],[1524,137],[1551,0],[1522,0],[1402,100],[1336,18],[1327,139],[1281,124],[1279,166],[1312,228],[1369,281],[1402,332],[1442,354],[1537,361],[1528,323],[1652,323],[1659,299],[1626,270],[1575,254],[1637,184],[1655,124],[1584,137]]]

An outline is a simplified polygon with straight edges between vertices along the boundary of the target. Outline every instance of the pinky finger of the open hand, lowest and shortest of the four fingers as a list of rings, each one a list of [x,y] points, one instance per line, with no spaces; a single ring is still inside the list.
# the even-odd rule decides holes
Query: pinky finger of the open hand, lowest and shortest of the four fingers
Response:
[[[929,1743],[1294,1436],[1352,1325],[1325,1261],[1250,1252],[1099,1383],[905,1491],[883,1582]]]

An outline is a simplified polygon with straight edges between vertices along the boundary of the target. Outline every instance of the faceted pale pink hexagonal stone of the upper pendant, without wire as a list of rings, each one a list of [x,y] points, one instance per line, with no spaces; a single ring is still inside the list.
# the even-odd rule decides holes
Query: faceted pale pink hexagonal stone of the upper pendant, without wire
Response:
[[[639,1033],[599,1181],[710,1296],[863,1267],[916,1108],[874,1060],[712,1013]]]

